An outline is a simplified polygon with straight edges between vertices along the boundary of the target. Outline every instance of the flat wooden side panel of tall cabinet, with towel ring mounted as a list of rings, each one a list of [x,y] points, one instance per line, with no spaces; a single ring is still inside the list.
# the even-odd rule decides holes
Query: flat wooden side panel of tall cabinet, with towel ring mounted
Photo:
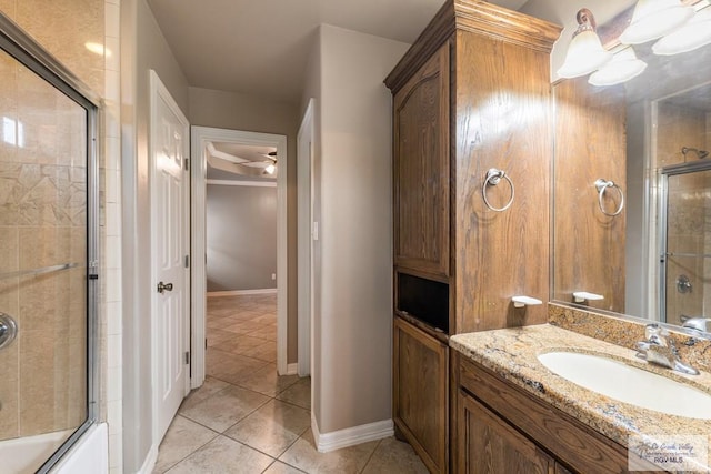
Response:
[[[550,294],[549,57],[469,32],[457,33],[455,56],[455,333],[540,324],[545,305],[514,309],[511,297]],[[515,186],[507,211],[483,202],[490,168]],[[488,195],[502,206],[508,182],[489,186]]]

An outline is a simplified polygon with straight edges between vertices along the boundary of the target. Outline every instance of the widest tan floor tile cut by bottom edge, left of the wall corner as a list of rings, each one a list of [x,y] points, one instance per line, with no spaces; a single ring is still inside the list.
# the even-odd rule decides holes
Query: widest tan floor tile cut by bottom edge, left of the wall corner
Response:
[[[177,464],[170,474],[230,473],[264,471],[273,460],[241,443],[219,436]]]

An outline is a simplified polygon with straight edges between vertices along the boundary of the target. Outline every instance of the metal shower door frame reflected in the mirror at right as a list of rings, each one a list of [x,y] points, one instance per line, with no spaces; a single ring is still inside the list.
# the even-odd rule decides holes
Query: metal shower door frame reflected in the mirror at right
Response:
[[[702,171],[711,171],[711,161],[699,160],[688,163],[671,164],[659,170],[659,319],[667,322],[667,236],[668,236],[668,210],[669,210],[669,177],[690,174]]]

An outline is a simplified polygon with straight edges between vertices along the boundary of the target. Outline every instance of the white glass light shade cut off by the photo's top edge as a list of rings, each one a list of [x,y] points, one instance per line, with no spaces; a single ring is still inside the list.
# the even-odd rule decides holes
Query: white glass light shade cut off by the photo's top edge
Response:
[[[620,34],[624,44],[640,44],[673,31],[693,14],[679,0],[639,0],[630,26]]]

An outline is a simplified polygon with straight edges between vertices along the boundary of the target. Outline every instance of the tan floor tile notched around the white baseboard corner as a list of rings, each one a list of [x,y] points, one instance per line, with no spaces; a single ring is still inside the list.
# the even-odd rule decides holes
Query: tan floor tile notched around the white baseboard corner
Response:
[[[279,461],[296,466],[308,473],[359,473],[372,455],[378,441],[343,447],[330,453],[316,450],[311,430],[291,445]]]

